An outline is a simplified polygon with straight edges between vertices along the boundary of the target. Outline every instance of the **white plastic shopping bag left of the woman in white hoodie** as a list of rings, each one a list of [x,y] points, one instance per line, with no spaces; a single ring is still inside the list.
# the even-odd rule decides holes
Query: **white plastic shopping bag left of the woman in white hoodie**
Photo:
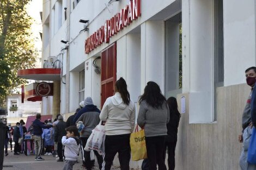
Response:
[[[102,155],[103,154],[103,144],[105,139],[105,126],[100,123],[92,130],[92,134],[90,134],[86,147],[84,150],[97,150],[97,152]]]

